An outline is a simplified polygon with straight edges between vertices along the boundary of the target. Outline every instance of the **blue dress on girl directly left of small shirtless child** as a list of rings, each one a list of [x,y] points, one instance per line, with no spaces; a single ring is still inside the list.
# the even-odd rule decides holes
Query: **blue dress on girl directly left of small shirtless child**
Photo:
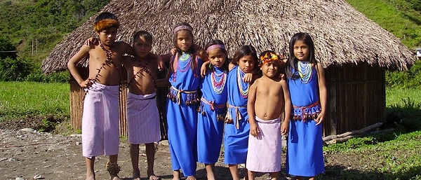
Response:
[[[250,125],[247,115],[248,83],[243,83],[244,72],[238,66],[228,74],[228,112],[234,123],[225,123],[225,164],[246,163]],[[238,81],[237,81],[238,80]]]

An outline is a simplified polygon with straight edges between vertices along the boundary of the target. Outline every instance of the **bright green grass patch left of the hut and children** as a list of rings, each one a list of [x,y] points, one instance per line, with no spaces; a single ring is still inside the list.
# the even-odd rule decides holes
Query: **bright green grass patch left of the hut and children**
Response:
[[[69,112],[68,83],[0,82],[0,121]]]

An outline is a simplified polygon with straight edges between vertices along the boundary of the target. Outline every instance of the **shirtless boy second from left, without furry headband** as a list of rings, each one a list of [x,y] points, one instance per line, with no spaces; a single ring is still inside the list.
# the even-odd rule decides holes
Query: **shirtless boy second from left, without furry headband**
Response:
[[[126,57],[124,66],[128,76],[127,126],[133,179],[140,180],[139,144],[145,144],[147,176],[158,180],[154,174],[154,142],[161,140],[159,112],[156,107],[156,78],[160,56],[149,53],[152,50],[152,35],[140,31],[133,35],[135,57]]]

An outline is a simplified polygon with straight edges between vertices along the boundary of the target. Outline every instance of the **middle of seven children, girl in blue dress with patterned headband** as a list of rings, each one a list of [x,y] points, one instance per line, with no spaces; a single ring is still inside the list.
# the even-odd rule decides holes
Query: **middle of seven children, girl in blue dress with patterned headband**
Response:
[[[227,114],[228,53],[220,40],[205,46],[208,59],[207,73],[201,83],[201,106],[197,122],[197,160],[204,163],[207,179],[214,180],[213,167],[218,161],[224,120]]]

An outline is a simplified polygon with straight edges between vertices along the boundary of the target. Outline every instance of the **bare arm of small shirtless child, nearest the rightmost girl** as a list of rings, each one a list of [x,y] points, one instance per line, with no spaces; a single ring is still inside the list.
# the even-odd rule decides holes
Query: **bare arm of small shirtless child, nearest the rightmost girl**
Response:
[[[283,119],[283,123],[281,125],[281,134],[286,135],[288,134],[289,130],[289,121],[291,112],[293,111],[293,104],[291,103],[290,92],[288,88],[288,83],[285,80],[281,80],[282,90],[283,90],[283,99],[285,101],[283,105],[283,109],[285,112],[285,118]]]

